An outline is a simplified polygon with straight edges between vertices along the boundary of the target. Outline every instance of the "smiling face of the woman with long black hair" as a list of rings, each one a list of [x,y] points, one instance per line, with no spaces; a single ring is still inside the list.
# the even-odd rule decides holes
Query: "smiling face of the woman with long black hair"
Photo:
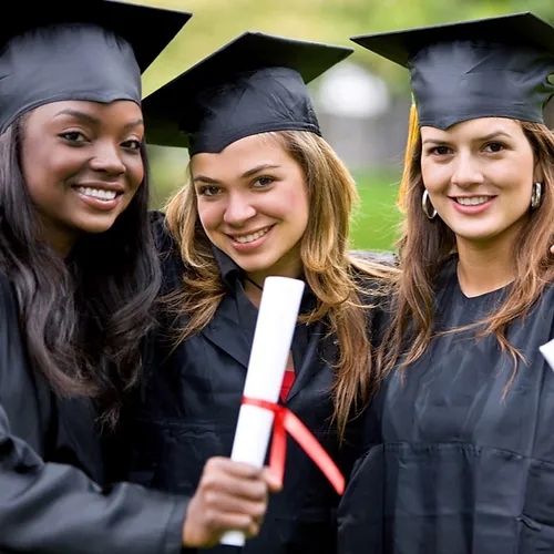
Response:
[[[131,101],[54,102],[24,117],[22,173],[54,248],[110,229],[129,206],[144,178],[143,134]]]

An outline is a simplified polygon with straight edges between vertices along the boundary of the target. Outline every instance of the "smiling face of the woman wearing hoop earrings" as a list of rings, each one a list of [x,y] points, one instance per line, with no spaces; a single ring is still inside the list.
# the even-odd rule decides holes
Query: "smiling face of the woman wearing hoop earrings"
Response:
[[[515,236],[542,181],[520,123],[482,117],[447,131],[421,127],[421,140],[423,184],[456,239],[490,245]]]

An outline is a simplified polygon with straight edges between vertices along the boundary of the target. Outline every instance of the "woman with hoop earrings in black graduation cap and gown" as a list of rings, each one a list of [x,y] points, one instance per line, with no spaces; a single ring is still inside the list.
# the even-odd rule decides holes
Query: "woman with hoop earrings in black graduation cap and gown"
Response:
[[[401,275],[341,553],[554,551],[554,28],[355,39],[410,69]]]

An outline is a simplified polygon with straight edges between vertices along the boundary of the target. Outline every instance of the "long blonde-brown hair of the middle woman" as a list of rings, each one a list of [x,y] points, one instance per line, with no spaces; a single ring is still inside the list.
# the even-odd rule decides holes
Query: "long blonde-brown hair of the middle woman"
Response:
[[[370,298],[393,269],[349,255],[349,220],[358,202],[356,184],[332,148],[314,133],[267,133],[300,165],[308,187],[310,213],[301,238],[306,281],[317,298],[302,321],[325,319],[338,345],[334,387],[339,435],[358,402],[367,401],[372,381],[372,351],[368,337]],[[166,207],[167,224],[179,245],[186,269],[183,289],[170,297],[173,309],[187,316],[179,341],[199,331],[215,315],[225,295],[211,243],[198,217],[194,187],[188,182]],[[371,290],[368,290],[370,279]],[[362,286],[360,286],[362,281]],[[366,286],[363,286],[363,283]]]

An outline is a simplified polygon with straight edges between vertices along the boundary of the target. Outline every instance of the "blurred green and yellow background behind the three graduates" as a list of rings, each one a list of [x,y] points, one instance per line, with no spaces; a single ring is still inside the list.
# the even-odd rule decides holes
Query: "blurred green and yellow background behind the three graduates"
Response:
[[[360,135],[372,137],[365,140],[368,148],[367,163],[365,163],[365,157],[360,158],[359,155],[357,163],[347,163],[357,179],[362,201],[352,219],[352,247],[378,250],[393,246],[400,220],[394,201],[408,122],[410,94],[408,75],[406,70],[355,45],[348,40],[349,37],[522,11],[533,11],[547,21],[554,22],[554,0],[458,0],[455,2],[449,0],[134,1],[156,7],[183,9],[193,13],[193,18],[183,31],[146,71],[144,95],[246,30],[347,44],[356,49],[349,60],[371,74],[380,76],[387,83],[388,95],[392,99],[389,102],[388,113],[381,116],[383,121],[380,122],[380,126],[371,127],[372,123],[368,121],[366,126],[373,130],[372,134]],[[314,92],[317,91],[317,81],[310,85]],[[554,107],[550,107],[554,112]],[[391,123],[387,126],[389,121]],[[393,121],[394,125],[392,125]],[[325,131],[326,127],[322,126]],[[332,129],[335,127],[337,127],[336,123]],[[342,134],[350,133],[349,127],[345,129],[342,129]],[[359,130],[361,127],[358,125],[351,129]],[[383,129],[387,130],[387,133],[382,132]],[[337,147],[340,155],[340,136],[337,136],[337,144],[331,140],[329,142]],[[389,150],[383,150],[381,137],[390,145]],[[366,144],[361,145],[361,147],[365,146]],[[379,152],[386,154],[370,156],[369,153],[378,146]],[[342,146],[342,152],[348,154],[348,145]],[[154,205],[161,207],[164,201],[183,184],[187,154],[184,150],[155,146],[150,147],[150,154],[155,186]]]

